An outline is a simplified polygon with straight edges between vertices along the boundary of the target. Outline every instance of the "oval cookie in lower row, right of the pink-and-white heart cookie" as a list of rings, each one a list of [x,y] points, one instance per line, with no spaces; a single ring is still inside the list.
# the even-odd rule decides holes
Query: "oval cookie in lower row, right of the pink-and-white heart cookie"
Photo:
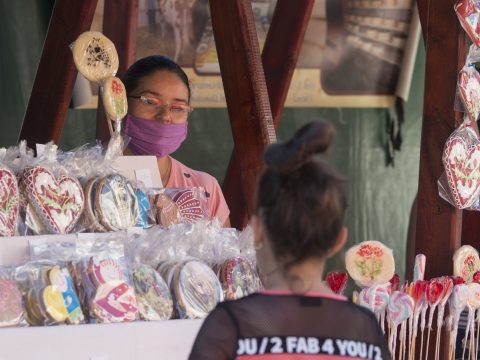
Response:
[[[142,265],[133,272],[138,310],[144,320],[168,320],[173,302],[165,280],[150,266]]]

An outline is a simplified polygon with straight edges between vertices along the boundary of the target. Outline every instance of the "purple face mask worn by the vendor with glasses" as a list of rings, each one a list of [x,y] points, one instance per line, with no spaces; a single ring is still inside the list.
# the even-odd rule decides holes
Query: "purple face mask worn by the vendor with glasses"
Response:
[[[128,114],[125,135],[131,138],[128,147],[135,155],[154,155],[157,158],[175,152],[187,137],[188,122],[162,124]]]

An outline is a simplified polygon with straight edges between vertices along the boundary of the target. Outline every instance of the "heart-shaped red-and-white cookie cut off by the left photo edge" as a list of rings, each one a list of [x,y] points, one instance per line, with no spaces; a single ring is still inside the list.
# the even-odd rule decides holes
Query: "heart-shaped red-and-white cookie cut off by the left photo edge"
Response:
[[[13,236],[17,230],[20,194],[17,178],[0,168],[0,236]]]

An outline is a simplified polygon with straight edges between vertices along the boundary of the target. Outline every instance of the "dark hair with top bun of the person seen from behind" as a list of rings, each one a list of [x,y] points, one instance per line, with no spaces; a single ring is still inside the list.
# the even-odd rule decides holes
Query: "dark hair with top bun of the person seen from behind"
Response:
[[[270,145],[259,180],[256,213],[277,260],[285,267],[324,256],[343,226],[347,207],[344,179],[325,161],[335,134],[332,125],[313,122],[286,143]]]

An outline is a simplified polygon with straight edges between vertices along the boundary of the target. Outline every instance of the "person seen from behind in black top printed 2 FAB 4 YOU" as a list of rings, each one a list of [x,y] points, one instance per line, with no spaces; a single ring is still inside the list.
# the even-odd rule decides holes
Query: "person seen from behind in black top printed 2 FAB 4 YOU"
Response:
[[[267,148],[252,218],[265,291],[218,304],[191,360],[391,358],[373,313],[322,281],[347,238],[344,181],[313,156],[333,135],[331,125],[311,123]]]

